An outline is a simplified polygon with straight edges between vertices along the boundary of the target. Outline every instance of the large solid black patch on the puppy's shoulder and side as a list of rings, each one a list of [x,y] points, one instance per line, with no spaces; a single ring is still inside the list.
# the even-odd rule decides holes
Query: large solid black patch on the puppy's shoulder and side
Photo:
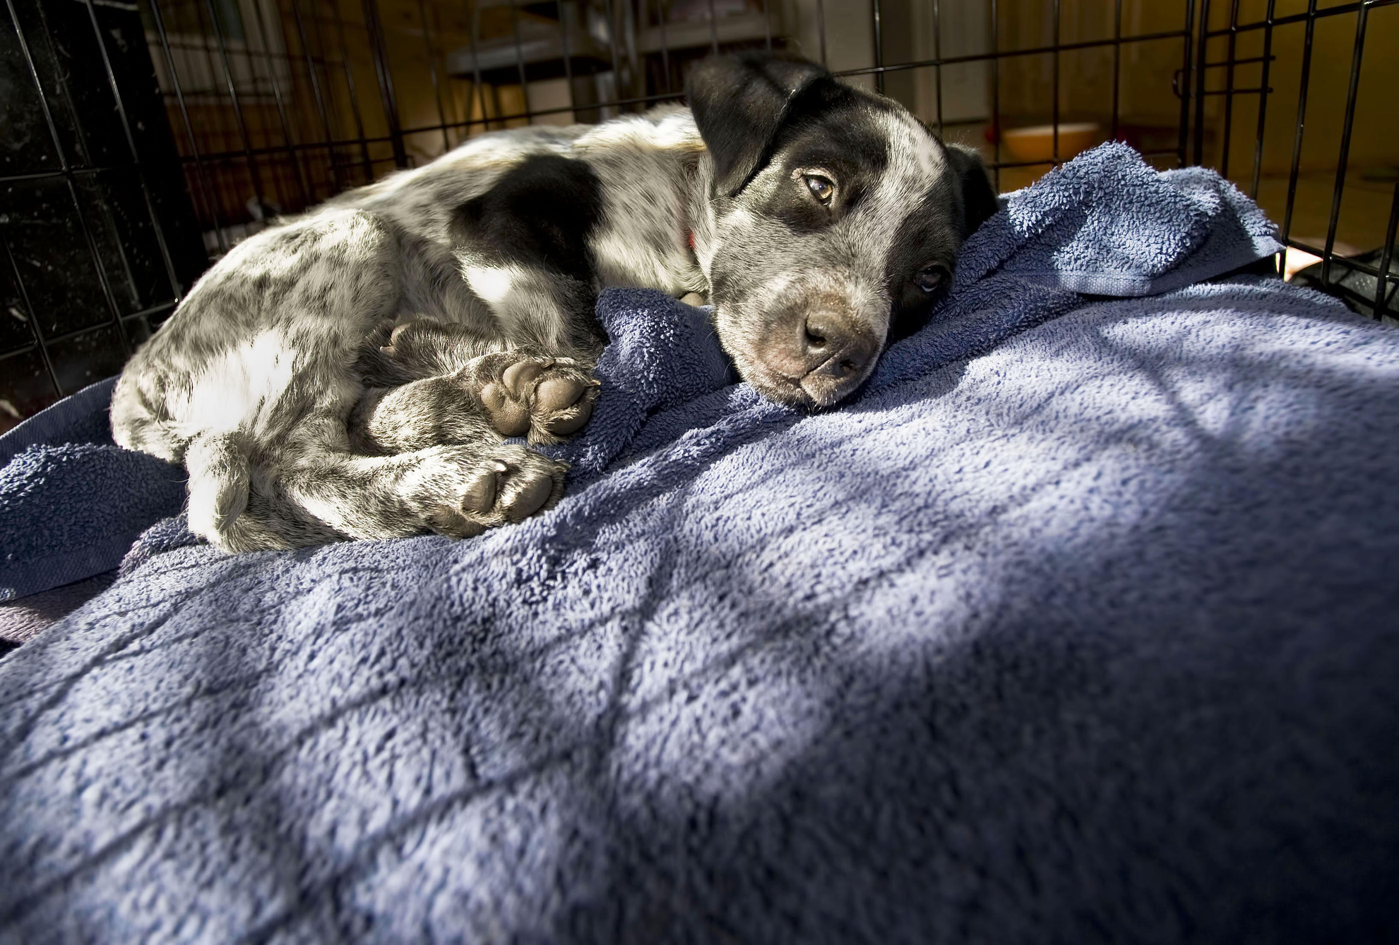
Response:
[[[525,158],[457,207],[452,238],[499,263],[523,263],[592,282],[588,238],[602,217],[602,183],[582,161]]]

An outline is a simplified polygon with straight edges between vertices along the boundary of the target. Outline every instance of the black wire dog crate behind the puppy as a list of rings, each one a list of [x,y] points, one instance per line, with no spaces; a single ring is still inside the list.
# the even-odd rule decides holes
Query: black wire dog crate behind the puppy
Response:
[[[786,49],[977,144],[1002,190],[1125,140],[1281,225],[1279,268],[1399,313],[1399,0],[4,0],[0,429],[116,373],[278,214],[487,130]]]

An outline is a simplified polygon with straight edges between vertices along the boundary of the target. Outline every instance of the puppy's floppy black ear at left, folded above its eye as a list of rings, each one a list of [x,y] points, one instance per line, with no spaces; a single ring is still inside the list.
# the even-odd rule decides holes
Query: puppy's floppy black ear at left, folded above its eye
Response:
[[[713,155],[718,193],[732,197],[743,190],[769,157],[796,99],[820,80],[834,81],[804,59],[747,53],[695,63],[686,96]]]

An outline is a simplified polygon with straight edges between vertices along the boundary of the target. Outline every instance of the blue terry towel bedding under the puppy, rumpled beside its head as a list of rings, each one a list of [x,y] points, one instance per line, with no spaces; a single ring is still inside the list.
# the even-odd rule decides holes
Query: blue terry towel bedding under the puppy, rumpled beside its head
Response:
[[[839,410],[614,292],[551,512],[157,524],[0,661],[0,939],[1381,938],[1399,334],[1273,280],[1143,295],[1270,240],[1108,145]]]

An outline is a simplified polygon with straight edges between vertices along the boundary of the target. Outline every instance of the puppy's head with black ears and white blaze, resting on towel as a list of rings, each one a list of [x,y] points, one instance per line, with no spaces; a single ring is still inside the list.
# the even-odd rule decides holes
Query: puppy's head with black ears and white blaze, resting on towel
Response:
[[[767,397],[834,404],[926,320],[997,208],[986,171],[803,60],[705,60],[687,94],[713,161],[697,252],[719,338]]]

